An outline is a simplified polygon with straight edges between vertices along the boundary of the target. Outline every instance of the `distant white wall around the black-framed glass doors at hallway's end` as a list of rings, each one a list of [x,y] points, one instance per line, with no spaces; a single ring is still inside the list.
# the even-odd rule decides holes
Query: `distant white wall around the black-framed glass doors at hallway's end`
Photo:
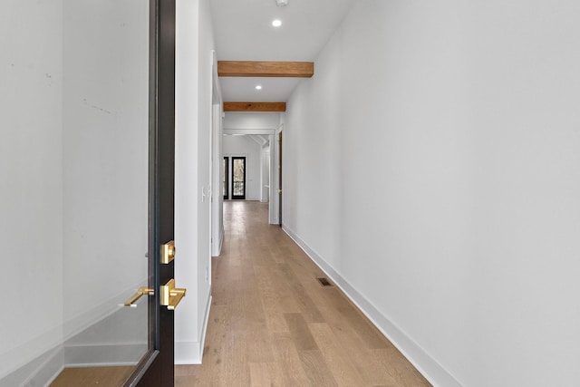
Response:
[[[249,136],[223,136],[224,157],[246,158],[246,199],[260,199],[260,151],[262,147]],[[231,180],[231,165],[228,173]],[[230,184],[231,185],[231,184]]]

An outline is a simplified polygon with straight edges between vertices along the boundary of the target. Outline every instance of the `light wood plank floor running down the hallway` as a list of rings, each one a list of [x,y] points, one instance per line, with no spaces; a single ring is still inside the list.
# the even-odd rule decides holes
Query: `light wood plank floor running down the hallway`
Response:
[[[429,386],[277,226],[267,204],[226,202],[203,364],[177,386]]]

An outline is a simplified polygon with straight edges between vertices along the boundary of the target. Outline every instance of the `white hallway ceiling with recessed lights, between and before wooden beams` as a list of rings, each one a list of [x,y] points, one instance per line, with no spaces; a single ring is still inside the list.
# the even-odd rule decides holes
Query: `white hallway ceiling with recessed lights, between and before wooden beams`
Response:
[[[279,7],[275,0],[210,0],[218,60],[314,62],[355,1],[288,0]],[[282,26],[273,27],[274,19]],[[285,102],[300,78],[219,81],[224,101]]]

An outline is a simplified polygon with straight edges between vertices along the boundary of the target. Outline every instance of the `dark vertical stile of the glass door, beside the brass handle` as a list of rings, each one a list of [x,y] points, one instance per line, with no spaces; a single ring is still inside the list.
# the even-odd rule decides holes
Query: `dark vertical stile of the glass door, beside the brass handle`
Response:
[[[149,350],[124,386],[174,384],[174,312],[160,306],[160,285],[174,275],[160,264],[161,244],[174,237],[175,0],[150,0],[149,80]]]

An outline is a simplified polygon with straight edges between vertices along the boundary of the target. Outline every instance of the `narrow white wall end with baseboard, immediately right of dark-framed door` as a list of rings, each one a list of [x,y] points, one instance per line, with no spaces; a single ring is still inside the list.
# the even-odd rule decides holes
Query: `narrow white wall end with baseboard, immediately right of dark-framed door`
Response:
[[[208,1],[178,0],[176,28],[175,277],[188,293],[176,311],[175,362],[199,363],[209,310],[211,263],[214,44]]]

